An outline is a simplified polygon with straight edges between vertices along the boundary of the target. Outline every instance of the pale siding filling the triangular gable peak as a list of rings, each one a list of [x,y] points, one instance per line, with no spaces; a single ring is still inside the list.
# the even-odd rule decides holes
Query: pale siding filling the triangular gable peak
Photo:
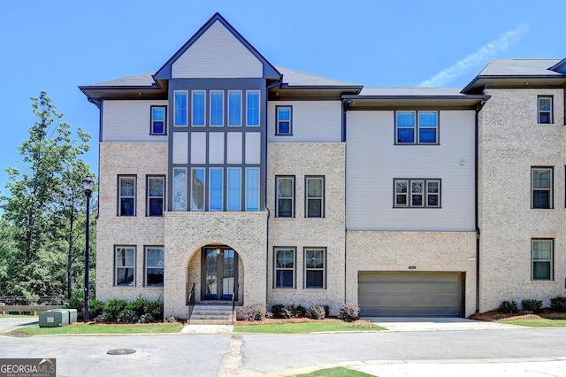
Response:
[[[264,65],[220,21],[172,64],[172,78],[263,77]]]

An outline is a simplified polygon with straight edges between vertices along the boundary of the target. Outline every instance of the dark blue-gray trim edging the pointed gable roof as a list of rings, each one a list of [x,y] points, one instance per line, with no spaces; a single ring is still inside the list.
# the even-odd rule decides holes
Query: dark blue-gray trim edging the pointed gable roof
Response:
[[[278,80],[280,78],[280,73],[275,69],[275,67],[264,58],[259,51],[256,50],[236,29],[220,15],[220,13],[215,13],[204,25],[201,27],[195,35],[193,35],[181,48],[173,54],[167,62],[157,70],[155,78],[159,79],[170,79],[172,77],[172,65],[179,59],[190,47],[195,43],[206,31],[214,25],[215,22],[220,22],[233,36],[238,39],[260,62],[264,65],[264,78]]]

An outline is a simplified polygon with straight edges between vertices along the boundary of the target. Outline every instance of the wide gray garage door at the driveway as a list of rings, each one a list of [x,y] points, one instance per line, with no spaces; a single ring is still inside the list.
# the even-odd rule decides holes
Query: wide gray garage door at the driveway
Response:
[[[463,273],[358,273],[361,317],[461,317]]]

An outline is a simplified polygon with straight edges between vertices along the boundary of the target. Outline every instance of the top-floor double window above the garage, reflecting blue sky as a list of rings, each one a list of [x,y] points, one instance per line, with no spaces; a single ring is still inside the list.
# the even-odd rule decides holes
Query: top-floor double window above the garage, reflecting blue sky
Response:
[[[436,144],[439,142],[438,112],[396,112],[397,144]]]

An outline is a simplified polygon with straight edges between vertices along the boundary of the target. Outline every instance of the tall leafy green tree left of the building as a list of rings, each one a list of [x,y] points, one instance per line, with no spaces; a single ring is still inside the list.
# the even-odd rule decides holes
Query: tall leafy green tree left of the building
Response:
[[[25,169],[6,169],[10,195],[0,197],[13,242],[6,293],[62,294],[72,289],[69,275],[78,254],[78,230],[84,227],[79,212],[85,197],[78,193],[88,165],[80,156],[89,150],[90,135],[79,128],[72,139],[70,125],[59,121],[63,114],[45,91],[32,97],[32,107],[37,119],[18,148]]]

